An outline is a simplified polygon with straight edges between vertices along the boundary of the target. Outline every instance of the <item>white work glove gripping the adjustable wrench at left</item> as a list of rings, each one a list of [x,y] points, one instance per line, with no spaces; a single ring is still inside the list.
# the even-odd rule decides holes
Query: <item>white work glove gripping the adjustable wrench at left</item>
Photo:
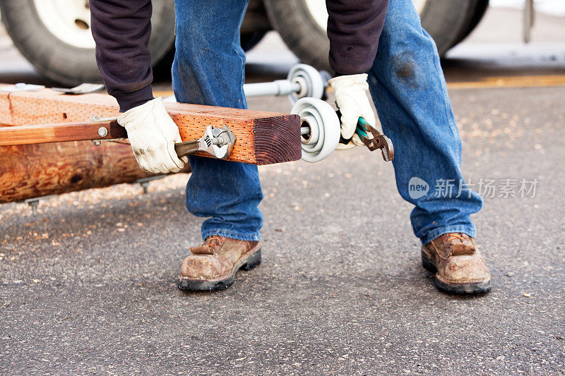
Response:
[[[189,159],[177,157],[174,143],[181,142],[179,128],[172,121],[161,98],[133,107],[118,118],[126,128],[129,143],[141,169],[153,174],[179,172]]]

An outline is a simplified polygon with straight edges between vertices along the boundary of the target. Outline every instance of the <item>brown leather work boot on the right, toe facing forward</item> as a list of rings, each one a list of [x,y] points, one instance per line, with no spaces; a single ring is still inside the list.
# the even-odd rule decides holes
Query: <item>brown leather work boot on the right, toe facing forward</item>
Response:
[[[422,265],[436,273],[436,286],[446,293],[490,291],[487,264],[467,234],[444,234],[422,245]]]

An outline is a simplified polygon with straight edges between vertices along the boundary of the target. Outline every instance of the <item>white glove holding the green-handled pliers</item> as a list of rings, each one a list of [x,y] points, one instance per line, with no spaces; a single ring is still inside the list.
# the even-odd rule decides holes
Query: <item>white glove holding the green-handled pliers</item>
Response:
[[[350,140],[355,134],[357,120],[363,117],[374,126],[375,114],[369,102],[367,74],[340,75],[328,81],[335,92],[335,103],[341,112],[341,135]],[[363,145],[363,144],[362,144]]]

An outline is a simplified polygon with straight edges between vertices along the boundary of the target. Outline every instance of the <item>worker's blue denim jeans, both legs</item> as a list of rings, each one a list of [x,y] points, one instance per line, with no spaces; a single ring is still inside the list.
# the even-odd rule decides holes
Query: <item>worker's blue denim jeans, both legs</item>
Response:
[[[239,47],[246,0],[176,0],[177,54],[173,89],[179,102],[245,108],[245,56]],[[391,0],[369,73],[383,131],[393,140],[393,166],[400,195],[415,205],[410,219],[422,243],[447,232],[475,236],[470,214],[481,198],[465,190],[461,141],[439,56],[420,25],[411,0]],[[191,157],[186,208],[210,217],[202,236],[258,240],[263,198],[256,166]],[[420,179],[420,180],[418,180]],[[436,195],[438,181],[450,194]],[[410,190],[427,185],[427,193]],[[463,195],[456,193],[463,190]],[[451,194],[451,192],[455,194]]]

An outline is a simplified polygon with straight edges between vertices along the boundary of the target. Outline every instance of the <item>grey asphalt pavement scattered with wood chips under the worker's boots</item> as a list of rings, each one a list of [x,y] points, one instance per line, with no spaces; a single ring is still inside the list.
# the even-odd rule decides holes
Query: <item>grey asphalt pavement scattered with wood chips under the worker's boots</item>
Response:
[[[177,275],[201,219],[184,209],[179,174],[145,195],[124,184],[42,200],[36,217],[25,204],[0,205],[0,373],[565,374],[565,85],[484,79],[559,82],[565,41],[538,52],[503,41],[498,58],[483,59],[472,51],[493,50],[472,38],[444,65],[450,85],[485,82],[450,95],[465,178],[483,190],[473,220],[491,293],[435,289],[391,164],[362,148],[261,167],[263,262],[226,291],[184,293]],[[505,48],[537,63],[504,63]],[[292,65],[289,54],[269,71],[255,53],[251,80]],[[521,181],[534,189],[520,193]]]

